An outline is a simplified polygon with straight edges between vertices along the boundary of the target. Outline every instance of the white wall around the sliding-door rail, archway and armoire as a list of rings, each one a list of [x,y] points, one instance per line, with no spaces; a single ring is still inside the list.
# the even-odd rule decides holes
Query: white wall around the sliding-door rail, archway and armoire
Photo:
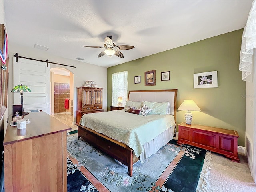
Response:
[[[11,37],[10,37],[11,38]],[[96,66],[76,60],[70,60],[58,56],[53,56],[48,54],[46,51],[39,50],[34,48],[34,45],[31,45],[31,48],[26,48],[20,45],[15,44],[14,42],[9,40],[9,57],[12,58],[15,53],[18,53],[19,56],[34,58],[38,60],[49,60],[49,62],[55,62],[60,64],[66,64],[70,66],[75,66],[76,68],[60,66],[55,64],[50,64],[50,68],[54,67],[61,67],[70,70],[74,74],[74,98],[76,98],[76,87],[80,87],[84,84],[86,80],[93,80],[95,84],[98,84],[98,87],[104,88],[103,89],[103,108],[104,111],[107,111],[107,68]],[[35,42],[36,43],[36,42]],[[13,65],[12,59],[9,60],[9,90],[13,88]],[[9,92],[9,91],[8,91]],[[12,104],[13,104],[13,96],[9,94],[9,112],[12,113]],[[73,114],[76,114],[76,99],[73,102]],[[74,121],[75,118],[74,118]]]

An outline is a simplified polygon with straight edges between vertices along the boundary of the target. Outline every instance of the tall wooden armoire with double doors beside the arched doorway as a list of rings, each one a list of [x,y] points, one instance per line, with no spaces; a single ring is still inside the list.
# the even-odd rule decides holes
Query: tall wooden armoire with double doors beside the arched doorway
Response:
[[[102,90],[96,87],[77,87],[76,102],[76,122],[79,123],[81,117],[86,113],[103,112]]]

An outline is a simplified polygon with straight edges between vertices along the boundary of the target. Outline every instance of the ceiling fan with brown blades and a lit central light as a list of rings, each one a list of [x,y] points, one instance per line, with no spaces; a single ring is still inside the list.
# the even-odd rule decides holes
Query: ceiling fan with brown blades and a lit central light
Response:
[[[130,45],[116,45],[112,42],[112,36],[107,36],[104,41],[104,46],[86,46],[84,45],[84,47],[92,47],[92,48],[101,48],[101,49],[105,49],[104,51],[102,51],[98,57],[102,57],[105,54],[107,54],[109,57],[111,57],[112,55],[118,56],[120,58],[124,58],[124,55],[119,51],[119,50],[129,50],[129,49],[133,49],[134,46],[130,46]]]

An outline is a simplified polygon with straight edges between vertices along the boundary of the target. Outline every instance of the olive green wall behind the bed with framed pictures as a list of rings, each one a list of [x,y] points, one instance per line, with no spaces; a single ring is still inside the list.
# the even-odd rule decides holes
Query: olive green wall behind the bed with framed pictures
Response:
[[[236,130],[238,145],[245,146],[246,82],[238,70],[242,33],[243,29],[236,30],[109,67],[108,110],[112,104],[112,74],[127,70],[128,91],[178,89],[177,107],[192,99],[202,110],[192,112],[193,124]],[[150,70],[156,70],[155,86],[145,86],[144,72]],[[170,81],[161,81],[161,72],[166,71],[170,71]],[[218,87],[194,89],[193,74],[209,71],[218,71]],[[141,83],[134,84],[134,76],[139,75]],[[177,124],[185,121],[184,114],[177,110]]]

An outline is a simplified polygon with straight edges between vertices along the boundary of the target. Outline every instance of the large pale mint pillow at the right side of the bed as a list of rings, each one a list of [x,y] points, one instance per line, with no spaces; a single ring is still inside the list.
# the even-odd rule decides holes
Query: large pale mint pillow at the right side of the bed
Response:
[[[150,114],[156,114],[156,115],[166,115],[166,112],[168,111],[168,104],[169,102],[150,102],[150,101],[142,101],[142,105],[146,105],[148,108],[151,108],[152,111]]]

